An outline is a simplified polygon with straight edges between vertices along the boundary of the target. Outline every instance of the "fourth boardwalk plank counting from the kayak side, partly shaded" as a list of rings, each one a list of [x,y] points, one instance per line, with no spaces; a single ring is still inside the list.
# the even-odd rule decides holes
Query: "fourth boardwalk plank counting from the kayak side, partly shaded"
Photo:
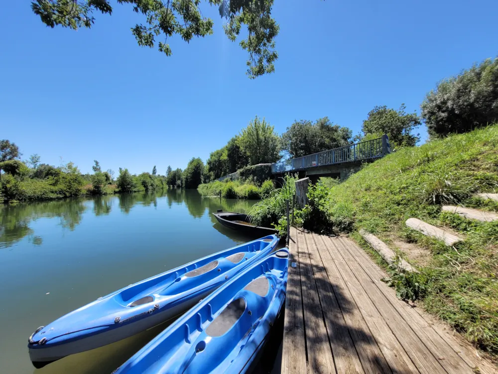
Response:
[[[355,344],[363,370],[365,373],[372,374],[391,373],[369,326],[363,318],[360,308],[351,295],[347,281],[342,278],[328,249],[320,252],[320,257],[351,339]]]

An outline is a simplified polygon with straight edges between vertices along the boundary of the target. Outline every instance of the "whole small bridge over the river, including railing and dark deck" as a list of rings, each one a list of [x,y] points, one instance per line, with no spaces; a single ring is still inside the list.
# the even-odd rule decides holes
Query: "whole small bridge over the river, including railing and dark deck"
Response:
[[[387,135],[365,142],[350,144],[312,155],[271,164],[274,175],[298,172],[300,177],[340,177],[345,179],[365,162],[371,162],[391,152]]]

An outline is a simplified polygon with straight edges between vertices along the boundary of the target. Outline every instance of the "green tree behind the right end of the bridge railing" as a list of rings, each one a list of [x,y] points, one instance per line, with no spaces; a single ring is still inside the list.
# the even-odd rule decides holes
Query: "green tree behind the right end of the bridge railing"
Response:
[[[375,106],[363,121],[363,133],[375,137],[387,134],[391,145],[414,146],[420,137],[419,134],[412,134],[412,131],[420,125],[420,118],[415,112],[406,113],[405,109],[404,104],[398,110],[388,109],[385,105]]]

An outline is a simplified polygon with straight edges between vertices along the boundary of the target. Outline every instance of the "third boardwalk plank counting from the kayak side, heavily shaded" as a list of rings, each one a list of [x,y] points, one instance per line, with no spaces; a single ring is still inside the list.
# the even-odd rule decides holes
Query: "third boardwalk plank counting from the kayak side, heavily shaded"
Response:
[[[337,374],[365,373],[320,257],[327,248],[318,234],[307,235],[306,240]]]

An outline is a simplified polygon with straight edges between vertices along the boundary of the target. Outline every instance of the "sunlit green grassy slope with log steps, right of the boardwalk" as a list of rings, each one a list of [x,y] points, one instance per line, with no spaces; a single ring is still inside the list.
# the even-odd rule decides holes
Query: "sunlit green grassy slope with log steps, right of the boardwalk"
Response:
[[[400,149],[367,165],[330,189],[336,228],[366,228],[393,249],[396,240],[430,251],[420,275],[400,287],[421,284],[425,308],[449,322],[476,346],[498,357],[498,222],[469,221],[441,213],[442,204],[498,211],[496,202],[472,197],[498,191],[498,125]],[[420,218],[448,227],[465,241],[448,248],[405,227]],[[378,258],[376,259],[378,261]],[[399,289],[398,289],[399,290]]]

